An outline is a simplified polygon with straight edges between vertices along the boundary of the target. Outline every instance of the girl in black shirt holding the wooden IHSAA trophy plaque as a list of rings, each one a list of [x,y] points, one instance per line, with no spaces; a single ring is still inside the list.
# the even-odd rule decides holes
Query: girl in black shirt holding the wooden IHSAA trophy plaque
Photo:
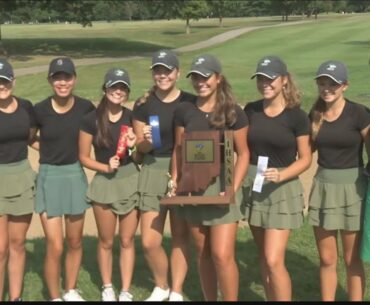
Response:
[[[230,84],[222,74],[221,64],[216,57],[209,54],[197,56],[187,76],[191,77],[197,100],[183,103],[174,115],[172,194],[176,194],[176,187],[181,179],[180,152],[183,134],[192,131],[232,130],[237,154],[232,186],[236,202],[227,205],[184,205],[176,212],[179,218],[186,220],[195,242],[204,299],[217,301],[219,288],[223,301],[237,301],[239,271],[235,262],[235,240],[238,221],[243,218],[238,200],[239,191],[249,164],[249,151],[245,141],[248,120],[236,104]],[[215,180],[202,192],[205,196],[222,196],[221,179],[217,177]]]

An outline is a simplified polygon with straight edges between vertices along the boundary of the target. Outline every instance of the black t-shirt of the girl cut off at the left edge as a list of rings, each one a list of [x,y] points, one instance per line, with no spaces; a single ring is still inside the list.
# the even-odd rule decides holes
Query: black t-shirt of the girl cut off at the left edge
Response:
[[[0,164],[27,159],[30,128],[36,125],[32,103],[14,98],[18,106],[13,113],[0,111]]]

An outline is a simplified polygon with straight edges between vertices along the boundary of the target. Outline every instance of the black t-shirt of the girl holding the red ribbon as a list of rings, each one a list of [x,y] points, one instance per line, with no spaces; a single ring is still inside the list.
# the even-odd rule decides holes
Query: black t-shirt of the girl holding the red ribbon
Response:
[[[111,134],[113,144],[111,147],[99,147],[96,143],[97,135],[97,119],[96,111],[92,111],[85,115],[82,119],[80,129],[93,136],[93,146],[95,152],[95,159],[101,163],[108,164],[109,159],[116,154],[117,143],[121,132],[121,125],[132,126],[132,112],[130,109],[122,107],[123,112],[119,120],[115,123],[109,122],[109,132]],[[131,162],[131,158],[126,153],[126,156],[121,159],[121,165]]]

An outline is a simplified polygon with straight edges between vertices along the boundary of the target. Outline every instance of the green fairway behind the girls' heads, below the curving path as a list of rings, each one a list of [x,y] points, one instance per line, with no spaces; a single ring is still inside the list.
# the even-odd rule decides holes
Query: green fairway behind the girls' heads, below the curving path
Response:
[[[345,62],[349,69],[350,86],[346,91],[346,96],[370,106],[368,81],[370,39],[367,22],[369,16],[369,14],[361,14],[342,18],[327,17],[295,26],[264,28],[244,34],[222,45],[180,54],[182,76],[179,86],[192,91],[189,79],[185,78],[191,59],[200,53],[213,53],[222,61],[224,73],[232,84],[238,101],[245,104],[260,97],[255,81],[250,80],[258,59],[264,55],[276,54],[288,64],[290,72],[303,92],[302,107],[309,110],[317,96],[313,80],[317,67],[327,59],[337,59]],[[258,23],[254,20],[251,24]],[[207,37],[212,36],[214,29],[210,28],[203,29]],[[89,30],[92,31],[92,29]],[[170,47],[183,43],[182,38],[179,39],[176,35],[169,36],[173,41]],[[154,39],[150,33],[147,37]],[[156,38],[156,35],[154,37]],[[158,34],[158,37],[161,35]],[[203,38],[204,33],[203,36],[198,37],[200,40]],[[136,40],[131,42],[135,44]],[[153,41],[148,43],[153,43]],[[164,45],[166,44],[161,43],[161,46]],[[115,47],[116,45],[113,44],[112,49]],[[124,48],[121,50],[124,55]],[[101,97],[101,83],[104,74],[113,66],[122,66],[129,71],[132,79],[131,100],[142,95],[152,84],[149,71],[150,57],[147,56],[139,60],[78,67],[76,93],[98,101]],[[33,102],[40,101],[51,94],[45,78],[46,73],[18,77],[16,94],[29,98]]]

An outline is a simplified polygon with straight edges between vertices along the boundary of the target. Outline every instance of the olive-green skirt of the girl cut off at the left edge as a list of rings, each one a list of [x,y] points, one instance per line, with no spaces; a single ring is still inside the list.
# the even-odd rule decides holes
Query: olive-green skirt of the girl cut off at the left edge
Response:
[[[28,159],[0,164],[0,215],[32,214],[36,173]]]

